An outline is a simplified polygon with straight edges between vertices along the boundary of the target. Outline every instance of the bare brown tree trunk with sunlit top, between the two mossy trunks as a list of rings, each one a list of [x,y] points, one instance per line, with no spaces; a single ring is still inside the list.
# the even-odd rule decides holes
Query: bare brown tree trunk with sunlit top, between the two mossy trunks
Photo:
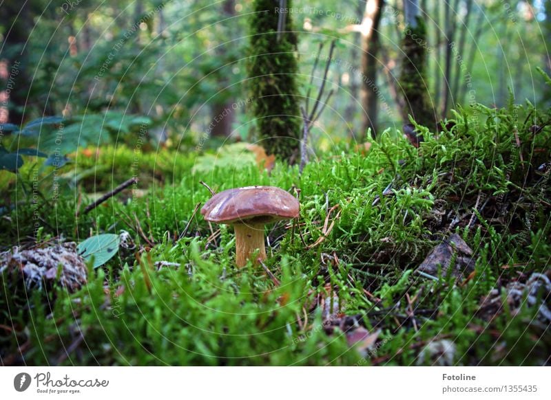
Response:
[[[362,21],[362,137],[371,128],[377,134],[377,58],[379,54],[379,25],[384,1],[368,0]]]

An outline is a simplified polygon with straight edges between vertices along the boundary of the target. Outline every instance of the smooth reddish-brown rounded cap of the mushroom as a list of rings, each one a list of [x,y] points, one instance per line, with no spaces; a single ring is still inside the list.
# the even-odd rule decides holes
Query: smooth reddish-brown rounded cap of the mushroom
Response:
[[[203,205],[206,221],[216,223],[271,223],[298,217],[299,203],[285,190],[273,186],[247,186],[224,190]]]

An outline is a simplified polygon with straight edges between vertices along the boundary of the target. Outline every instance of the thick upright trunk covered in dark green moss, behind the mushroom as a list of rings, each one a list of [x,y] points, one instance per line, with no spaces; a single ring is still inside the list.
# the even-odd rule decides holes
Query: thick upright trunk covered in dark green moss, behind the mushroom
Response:
[[[292,7],[286,1],[286,8]],[[278,22],[284,17],[278,34]],[[280,25],[281,26],[281,25]],[[268,154],[295,162],[300,148],[297,96],[297,37],[291,14],[274,0],[255,0],[251,17],[247,82],[256,132],[253,139]]]

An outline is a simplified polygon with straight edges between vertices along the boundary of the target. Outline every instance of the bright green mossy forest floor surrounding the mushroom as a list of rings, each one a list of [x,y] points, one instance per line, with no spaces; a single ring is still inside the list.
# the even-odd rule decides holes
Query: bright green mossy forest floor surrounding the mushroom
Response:
[[[142,197],[116,197],[78,218],[75,210],[90,202],[78,190],[63,192],[55,205],[40,198],[39,241],[127,230],[138,248],[91,269],[78,292],[48,293],[46,304],[43,293],[14,298],[3,276],[1,361],[408,366],[451,357],[457,365],[548,364],[549,322],[537,318],[537,307],[506,304],[491,318],[479,310],[492,288],[548,272],[550,169],[539,167],[551,158],[551,129],[534,135],[530,126],[549,118],[530,105],[472,107],[438,136],[419,127],[418,149],[387,131],[364,154],[350,144],[318,155],[302,175],[279,163],[271,174],[225,166],[194,175],[196,155],[162,150],[140,156]],[[77,160],[74,170],[102,172],[76,188],[107,191],[128,178],[134,153],[102,148]],[[200,181],[216,192],[271,185],[300,197],[298,221],[267,227],[266,267],[280,282],[264,269],[236,269],[231,227],[194,214],[209,198]],[[17,207],[0,222],[3,247],[29,243],[33,234],[33,208],[22,205],[21,190],[15,199],[15,187]],[[473,249],[475,274],[416,274],[453,232]],[[159,268],[160,261],[179,266]],[[332,318],[344,326],[380,330],[372,351],[351,348],[340,329],[326,333],[316,298],[338,298]],[[439,340],[453,351],[419,357]]]

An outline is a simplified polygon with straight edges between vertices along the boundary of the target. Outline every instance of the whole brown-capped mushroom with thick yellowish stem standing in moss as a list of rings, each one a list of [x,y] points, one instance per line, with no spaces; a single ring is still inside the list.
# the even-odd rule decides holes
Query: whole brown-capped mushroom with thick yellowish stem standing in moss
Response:
[[[273,186],[224,190],[211,197],[201,208],[205,221],[233,224],[238,267],[244,267],[256,250],[260,250],[258,259],[266,259],[264,225],[297,218],[298,212],[298,200]],[[256,264],[256,260],[252,261]]]

